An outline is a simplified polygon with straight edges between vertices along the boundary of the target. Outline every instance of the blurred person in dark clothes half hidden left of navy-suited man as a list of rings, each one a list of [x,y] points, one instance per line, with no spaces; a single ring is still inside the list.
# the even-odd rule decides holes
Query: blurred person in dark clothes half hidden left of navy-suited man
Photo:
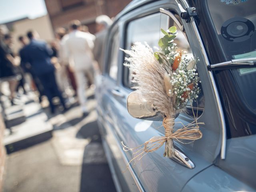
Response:
[[[42,84],[41,84],[40,80],[38,79],[38,77],[34,74],[33,70],[31,70],[30,63],[24,61],[25,46],[28,44],[28,38],[26,36],[19,36],[18,41],[21,44],[21,49],[19,50],[20,66],[25,73],[25,79],[27,79],[27,82],[31,81],[31,80],[28,80],[28,76],[32,77],[32,81],[30,83],[30,87],[31,87],[30,90],[32,90],[32,89],[35,90],[35,88],[38,90],[38,93],[39,93],[38,98],[39,98],[39,102],[41,102],[42,96],[43,96]],[[31,79],[31,77],[30,77],[30,79]]]

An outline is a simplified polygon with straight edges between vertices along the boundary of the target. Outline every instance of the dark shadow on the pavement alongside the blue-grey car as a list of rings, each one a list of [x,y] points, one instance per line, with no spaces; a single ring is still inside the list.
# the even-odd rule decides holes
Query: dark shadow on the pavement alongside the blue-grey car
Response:
[[[80,192],[115,192],[97,122],[90,122],[82,126],[76,137],[91,139],[90,144],[84,149]]]

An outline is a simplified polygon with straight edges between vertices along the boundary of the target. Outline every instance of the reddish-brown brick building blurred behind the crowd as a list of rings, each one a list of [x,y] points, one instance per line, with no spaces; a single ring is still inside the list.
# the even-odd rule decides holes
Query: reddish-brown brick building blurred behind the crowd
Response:
[[[131,0],[45,0],[52,28],[68,27],[78,19],[95,33],[95,18],[101,14],[116,16]]]

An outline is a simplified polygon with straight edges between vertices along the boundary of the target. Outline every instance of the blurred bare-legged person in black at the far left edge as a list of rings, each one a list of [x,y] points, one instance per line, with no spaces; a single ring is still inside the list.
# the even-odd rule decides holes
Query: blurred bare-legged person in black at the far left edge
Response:
[[[11,103],[14,104],[13,100],[16,96],[15,90],[21,76],[16,68],[18,62],[12,53],[12,44],[12,36],[5,34],[3,40],[0,42],[0,81],[7,81],[9,83],[10,100]]]

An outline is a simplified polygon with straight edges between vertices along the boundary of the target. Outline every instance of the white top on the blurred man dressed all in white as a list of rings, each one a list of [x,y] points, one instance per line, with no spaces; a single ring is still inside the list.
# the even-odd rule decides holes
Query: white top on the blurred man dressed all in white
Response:
[[[86,70],[92,66],[95,36],[74,30],[64,39],[64,55],[74,59],[75,70]],[[65,56],[64,56],[65,57]]]

